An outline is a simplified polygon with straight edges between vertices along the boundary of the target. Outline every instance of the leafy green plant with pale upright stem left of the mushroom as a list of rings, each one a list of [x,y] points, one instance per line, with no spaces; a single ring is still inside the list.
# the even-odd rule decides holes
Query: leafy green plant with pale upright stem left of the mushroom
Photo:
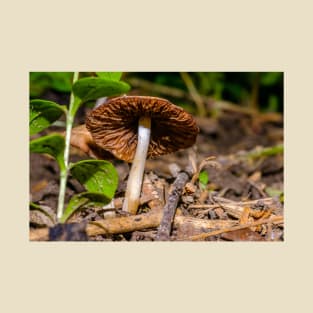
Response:
[[[59,74],[56,73],[57,77],[60,77]],[[57,218],[60,222],[65,222],[73,212],[87,204],[103,205],[109,203],[118,184],[117,171],[108,161],[86,160],[74,164],[69,163],[71,130],[79,107],[83,104],[95,102],[100,97],[120,95],[130,89],[128,84],[120,81],[122,73],[97,72],[96,74],[97,77],[83,78],[79,78],[78,72],[72,75],[68,108],[52,101],[41,99],[30,101],[30,135],[35,135],[48,128],[63,114],[66,116],[65,138],[60,134],[49,134],[30,141],[30,152],[48,154],[58,163],[60,187]],[[68,73],[62,75],[63,78],[68,77]],[[64,210],[69,172],[84,185],[87,191],[73,196]]]

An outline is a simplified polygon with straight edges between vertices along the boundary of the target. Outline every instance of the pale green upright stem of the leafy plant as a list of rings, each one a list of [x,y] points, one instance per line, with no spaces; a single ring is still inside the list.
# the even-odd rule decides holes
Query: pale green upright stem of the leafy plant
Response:
[[[78,80],[79,72],[74,72],[73,76],[73,85]],[[59,199],[58,199],[58,209],[57,209],[57,218],[60,220],[63,215],[64,210],[64,199],[66,192],[66,183],[68,176],[68,164],[69,164],[69,152],[70,152],[70,140],[71,140],[71,131],[73,127],[74,117],[77,111],[77,101],[80,101],[77,97],[74,96],[74,93],[71,93],[69,109],[66,114],[66,136],[65,136],[65,148],[64,148],[64,167],[60,168],[60,189],[59,189]]]

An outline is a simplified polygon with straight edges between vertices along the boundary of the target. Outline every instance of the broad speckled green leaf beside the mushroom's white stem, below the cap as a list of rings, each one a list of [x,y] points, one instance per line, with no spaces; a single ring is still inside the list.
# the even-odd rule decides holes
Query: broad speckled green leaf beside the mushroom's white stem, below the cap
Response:
[[[115,167],[105,160],[84,160],[70,167],[71,174],[90,192],[99,192],[109,198],[118,185]]]

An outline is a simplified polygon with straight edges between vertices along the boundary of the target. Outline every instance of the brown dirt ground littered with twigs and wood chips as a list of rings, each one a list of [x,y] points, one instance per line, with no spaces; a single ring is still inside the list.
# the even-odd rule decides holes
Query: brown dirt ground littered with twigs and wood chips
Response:
[[[77,124],[84,122],[84,114],[80,112]],[[282,241],[283,117],[224,108],[217,116],[196,120],[200,134],[193,148],[147,161],[135,217],[121,210],[129,166],[113,159],[119,186],[111,205],[82,208],[65,225],[57,224],[57,164],[45,155],[31,154],[30,201],[42,210],[30,210],[30,240],[156,241],[175,181],[193,165],[178,191],[167,240]],[[71,150],[71,161],[87,158]],[[198,178],[202,171],[208,174],[205,185]],[[70,177],[66,202],[82,191],[84,187]]]

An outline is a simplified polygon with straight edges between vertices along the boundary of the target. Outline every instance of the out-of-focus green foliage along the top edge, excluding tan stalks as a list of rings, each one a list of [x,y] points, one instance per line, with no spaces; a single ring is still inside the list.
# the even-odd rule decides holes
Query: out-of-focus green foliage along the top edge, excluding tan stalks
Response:
[[[43,97],[49,90],[70,93],[72,75],[70,72],[30,73],[31,98]],[[283,72],[189,72],[189,75],[202,96],[245,107],[256,105],[260,111],[283,112]],[[133,78],[188,92],[179,72],[123,73],[122,79],[130,85]],[[180,101],[179,105],[189,107],[190,103]]]

